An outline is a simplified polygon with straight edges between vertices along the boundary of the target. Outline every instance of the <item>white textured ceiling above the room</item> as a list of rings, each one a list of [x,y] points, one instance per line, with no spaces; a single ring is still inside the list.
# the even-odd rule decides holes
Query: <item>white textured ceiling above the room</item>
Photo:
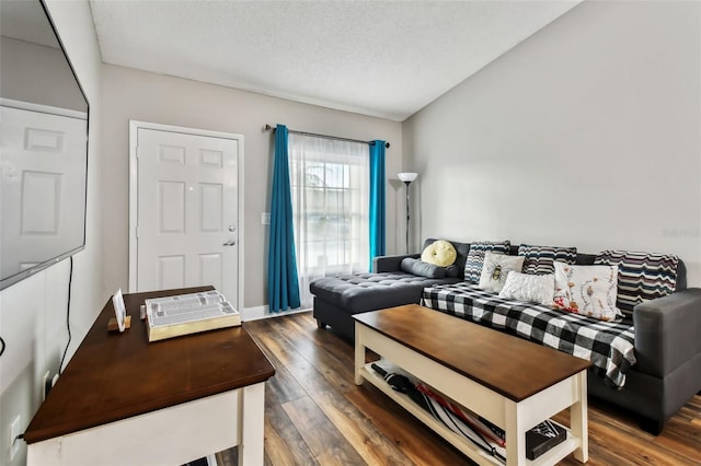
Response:
[[[402,121],[579,0],[91,0],[104,62]]]

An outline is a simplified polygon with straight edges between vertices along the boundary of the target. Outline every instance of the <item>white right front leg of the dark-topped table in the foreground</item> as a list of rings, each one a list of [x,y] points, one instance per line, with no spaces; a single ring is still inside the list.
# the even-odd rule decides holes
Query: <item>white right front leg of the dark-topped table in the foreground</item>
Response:
[[[240,388],[239,466],[264,463],[265,383]]]

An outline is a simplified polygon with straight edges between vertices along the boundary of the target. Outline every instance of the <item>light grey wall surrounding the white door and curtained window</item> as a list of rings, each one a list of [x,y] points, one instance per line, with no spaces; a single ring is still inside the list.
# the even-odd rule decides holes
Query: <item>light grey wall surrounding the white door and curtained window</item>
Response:
[[[105,66],[103,69],[104,128],[103,230],[105,244],[105,283],[107,290],[128,283],[128,195],[129,119],[199,128],[244,136],[244,306],[267,302],[266,265],[268,229],[261,213],[269,211],[269,172],[273,160],[273,133],[265,124],[284,124],[290,129],[341,136],[360,140],[383,139],[387,175],[401,171],[401,125],[381,118],[299,104],[230,88],[165,77],[135,69]],[[399,184],[388,184],[388,249],[398,244],[397,211],[403,209]],[[397,194],[400,194],[399,198]],[[403,232],[403,230],[402,230]],[[399,244],[403,244],[402,241]]]

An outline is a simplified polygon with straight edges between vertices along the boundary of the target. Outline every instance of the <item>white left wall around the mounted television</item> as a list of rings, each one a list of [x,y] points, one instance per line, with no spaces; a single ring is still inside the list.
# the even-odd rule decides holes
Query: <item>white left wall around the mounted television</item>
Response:
[[[101,292],[101,56],[88,1],[49,0],[47,4],[90,101],[87,246],[73,258],[69,358],[108,298]],[[42,375],[58,371],[68,341],[69,268],[66,259],[0,292],[0,335],[8,345],[0,357],[0,464],[25,463],[24,442],[20,454],[9,462],[9,423],[21,415],[24,431],[41,403]]]

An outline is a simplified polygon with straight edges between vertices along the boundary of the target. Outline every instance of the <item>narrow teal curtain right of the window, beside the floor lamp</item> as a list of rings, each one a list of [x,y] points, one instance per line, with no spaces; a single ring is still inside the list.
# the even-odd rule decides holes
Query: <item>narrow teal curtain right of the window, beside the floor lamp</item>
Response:
[[[384,141],[372,142],[370,144],[370,269],[372,259],[386,254]]]

